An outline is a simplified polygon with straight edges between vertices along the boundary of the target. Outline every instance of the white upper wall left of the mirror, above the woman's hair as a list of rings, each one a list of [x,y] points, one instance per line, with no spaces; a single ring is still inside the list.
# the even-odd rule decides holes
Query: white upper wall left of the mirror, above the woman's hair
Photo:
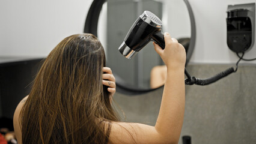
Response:
[[[0,1],[0,56],[47,56],[82,33],[93,0]]]

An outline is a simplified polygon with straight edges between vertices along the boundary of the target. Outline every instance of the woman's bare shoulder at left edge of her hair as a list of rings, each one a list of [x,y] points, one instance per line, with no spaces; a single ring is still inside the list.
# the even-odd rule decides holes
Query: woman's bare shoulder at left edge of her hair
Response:
[[[20,101],[13,115],[13,127],[14,127],[14,132],[15,132],[18,143],[22,143],[22,132],[21,132],[19,116],[20,116],[20,111],[22,110],[22,107],[24,106],[27,98],[28,96],[26,96]]]

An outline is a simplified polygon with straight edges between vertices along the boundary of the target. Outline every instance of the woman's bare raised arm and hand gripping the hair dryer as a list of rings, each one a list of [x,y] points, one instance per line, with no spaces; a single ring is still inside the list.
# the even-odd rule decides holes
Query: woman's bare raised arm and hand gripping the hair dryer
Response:
[[[156,125],[112,122],[109,143],[178,143],[183,124],[185,86],[184,47],[165,33],[165,49],[154,48],[167,67],[166,82]]]

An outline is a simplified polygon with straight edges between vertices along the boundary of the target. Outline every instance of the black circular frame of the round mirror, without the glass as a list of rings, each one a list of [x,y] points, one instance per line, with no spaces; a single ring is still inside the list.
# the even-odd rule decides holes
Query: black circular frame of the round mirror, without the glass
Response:
[[[97,27],[98,27],[98,21],[100,16],[100,11],[102,10],[103,4],[107,0],[94,0],[91,4],[91,7],[88,11],[87,18],[85,20],[85,26],[84,26],[84,33],[91,33],[94,34],[97,37]],[[189,47],[187,49],[186,53],[186,64],[189,62],[189,59],[191,58],[191,55],[194,51],[195,47],[195,40],[196,40],[196,28],[195,28],[195,18],[192,11],[192,8],[190,7],[188,0],[183,0],[187,6],[187,10],[189,11],[189,17],[190,17],[190,27],[191,27],[191,36],[189,41]],[[134,89],[134,88],[127,88],[126,82],[123,82],[121,77],[117,76],[114,73],[115,79],[116,79],[116,85],[117,85],[117,92],[127,94],[127,95],[138,95],[138,94],[145,94],[150,91],[154,91],[155,89],[162,88],[163,86],[160,86],[159,88],[155,89]]]

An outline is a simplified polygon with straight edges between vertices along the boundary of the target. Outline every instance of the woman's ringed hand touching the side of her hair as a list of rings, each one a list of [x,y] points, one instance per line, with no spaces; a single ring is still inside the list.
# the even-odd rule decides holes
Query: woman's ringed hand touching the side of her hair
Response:
[[[111,68],[103,67],[103,76],[102,83],[105,86],[108,86],[108,91],[110,92],[110,96],[113,97],[115,94],[115,77],[112,74]]]

